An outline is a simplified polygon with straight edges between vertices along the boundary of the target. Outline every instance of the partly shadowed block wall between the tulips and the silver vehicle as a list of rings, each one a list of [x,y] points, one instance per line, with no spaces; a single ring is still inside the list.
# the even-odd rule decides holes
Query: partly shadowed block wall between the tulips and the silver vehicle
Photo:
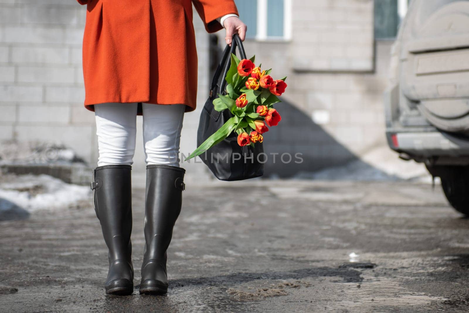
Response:
[[[256,64],[288,76],[277,105],[282,121],[265,134],[265,150],[304,159],[267,162],[268,174],[316,171],[386,144],[382,94],[392,42],[374,41],[373,11],[372,0],[292,0],[291,40],[245,41]]]

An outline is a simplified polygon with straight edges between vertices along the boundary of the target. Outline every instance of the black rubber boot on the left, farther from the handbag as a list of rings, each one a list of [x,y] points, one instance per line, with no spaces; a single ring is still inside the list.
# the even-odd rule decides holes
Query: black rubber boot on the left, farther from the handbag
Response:
[[[109,249],[107,294],[129,295],[134,291],[132,266],[132,190],[130,165],[104,165],[93,170],[93,201]]]

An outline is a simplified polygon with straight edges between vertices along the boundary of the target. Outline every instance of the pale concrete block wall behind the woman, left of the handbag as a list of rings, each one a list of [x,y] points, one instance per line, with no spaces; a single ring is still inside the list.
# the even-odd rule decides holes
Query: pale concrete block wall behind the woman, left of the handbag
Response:
[[[94,113],[83,107],[82,40],[86,6],[75,0],[0,0],[0,141],[65,144],[90,167],[98,146]],[[199,108],[184,119],[181,151],[196,148],[200,109],[208,96],[208,35],[194,9],[199,54]],[[134,173],[144,174],[142,118]],[[0,151],[1,152],[1,151]],[[184,164],[209,177],[203,164]]]

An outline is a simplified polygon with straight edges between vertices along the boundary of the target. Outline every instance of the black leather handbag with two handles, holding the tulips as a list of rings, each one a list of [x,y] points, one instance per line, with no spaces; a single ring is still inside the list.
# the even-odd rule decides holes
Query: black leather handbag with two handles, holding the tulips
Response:
[[[199,128],[197,130],[197,146],[200,146],[208,137],[215,133],[225,122],[233,117],[229,110],[222,112],[215,111],[213,100],[218,98],[217,93],[225,95],[225,86],[228,69],[231,65],[231,53],[236,54],[236,47],[240,53],[240,59],[246,59],[246,53],[242,46],[240,37],[233,35],[231,47],[227,45],[223,52],[223,57],[213,76],[210,88],[210,97],[205,102],[200,114]],[[218,82],[221,76],[220,87]],[[205,151],[199,157],[208,166],[213,175],[220,180],[242,180],[262,176],[264,174],[265,155],[261,142],[257,142],[254,147],[250,145],[240,147],[237,142],[238,135],[233,132],[223,141],[217,143],[212,148]]]

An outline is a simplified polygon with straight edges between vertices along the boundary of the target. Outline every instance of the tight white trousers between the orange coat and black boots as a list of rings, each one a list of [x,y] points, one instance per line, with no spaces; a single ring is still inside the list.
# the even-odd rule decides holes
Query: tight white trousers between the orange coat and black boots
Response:
[[[98,166],[133,164],[137,103],[94,106],[98,135]],[[142,104],[146,164],[179,166],[183,104]]]

